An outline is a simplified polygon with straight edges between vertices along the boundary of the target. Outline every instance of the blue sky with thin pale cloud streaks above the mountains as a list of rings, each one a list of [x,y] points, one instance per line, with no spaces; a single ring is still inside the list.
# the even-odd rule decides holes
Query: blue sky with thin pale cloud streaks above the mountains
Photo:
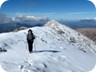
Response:
[[[88,0],[8,0],[0,13],[10,17],[32,15],[65,20],[96,18],[96,8]]]

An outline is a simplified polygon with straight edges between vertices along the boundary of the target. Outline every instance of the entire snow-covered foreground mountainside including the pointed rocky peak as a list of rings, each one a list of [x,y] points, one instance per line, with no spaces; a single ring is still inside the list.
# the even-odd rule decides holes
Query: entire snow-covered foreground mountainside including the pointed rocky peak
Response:
[[[31,28],[36,39],[29,54],[28,30],[0,34],[0,64],[7,72],[89,72],[96,64],[96,45],[80,33],[48,22]]]

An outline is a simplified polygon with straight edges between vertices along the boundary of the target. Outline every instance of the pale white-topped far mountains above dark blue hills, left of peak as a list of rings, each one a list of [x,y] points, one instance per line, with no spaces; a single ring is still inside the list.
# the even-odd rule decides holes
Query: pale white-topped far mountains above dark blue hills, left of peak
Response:
[[[27,24],[36,24],[40,22],[47,22],[49,19],[48,18],[43,18],[43,17],[35,17],[35,16],[16,16],[13,17],[12,20],[14,22],[19,22],[19,23],[27,23]]]

